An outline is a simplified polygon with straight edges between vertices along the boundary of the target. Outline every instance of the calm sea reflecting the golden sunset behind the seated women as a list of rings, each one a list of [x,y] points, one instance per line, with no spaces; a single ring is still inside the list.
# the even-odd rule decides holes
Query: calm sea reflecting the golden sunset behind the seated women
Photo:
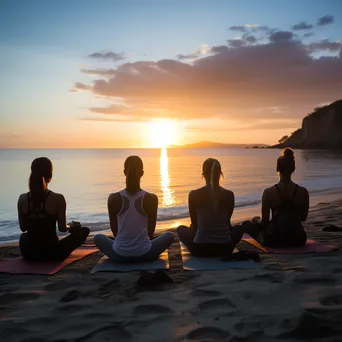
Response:
[[[158,220],[188,216],[187,196],[203,185],[201,166],[208,157],[220,160],[223,186],[235,193],[237,211],[260,205],[266,186],[277,182],[279,150],[272,149],[113,149],[113,150],[0,150],[0,241],[19,236],[16,203],[28,190],[30,164],[36,157],[53,161],[50,189],[64,194],[68,220],[92,230],[109,229],[108,194],[124,187],[123,163],[129,155],[144,161],[142,187],[159,197]],[[316,202],[341,193],[342,153],[296,151],[295,181],[306,186]]]

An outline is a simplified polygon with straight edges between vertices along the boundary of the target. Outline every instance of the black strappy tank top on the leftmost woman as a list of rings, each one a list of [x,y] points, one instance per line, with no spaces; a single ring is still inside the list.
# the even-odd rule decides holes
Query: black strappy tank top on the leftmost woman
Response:
[[[58,242],[56,234],[57,214],[50,214],[45,209],[46,199],[51,191],[47,191],[39,206],[34,205],[31,194],[27,193],[28,212],[24,217],[24,227],[32,242],[55,244]]]

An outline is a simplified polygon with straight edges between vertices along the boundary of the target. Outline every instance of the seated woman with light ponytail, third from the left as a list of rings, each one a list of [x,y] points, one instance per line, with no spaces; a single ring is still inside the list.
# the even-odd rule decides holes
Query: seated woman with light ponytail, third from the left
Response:
[[[232,227],[234,193],[220,186],[222,175],[218,160],[209,158],[203,163],[206,185],[189,193],[190,228],[177,229],[179,240],[193,255],[229,256],[241,240],[241,226]]]

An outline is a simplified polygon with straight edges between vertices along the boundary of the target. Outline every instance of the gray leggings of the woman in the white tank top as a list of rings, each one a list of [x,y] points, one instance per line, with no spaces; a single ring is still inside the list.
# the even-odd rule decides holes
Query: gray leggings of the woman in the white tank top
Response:
[[[119,255],[113,250],[112,238],[103,234],[98,234],[94,236],[94,242],[96,243],[96,246],[99,248],[99,250],[103,254],[107,255],[107,257],[111,261],[119,263],[134,263],[156,260],[158,259],[160,254],[162,254],[170,247],[173,241],[173,234],[171,232],[165,232],[151,240],[152,246],[147,253],[137,257],[128,257]]]

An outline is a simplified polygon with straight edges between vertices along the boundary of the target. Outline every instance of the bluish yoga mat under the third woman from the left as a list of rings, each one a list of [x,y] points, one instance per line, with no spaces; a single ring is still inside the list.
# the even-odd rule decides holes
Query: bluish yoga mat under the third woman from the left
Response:
[[[183,259],[183,269],[186,271],[200,270],[251,270],[257,267],[253,260],[247,261],[222,261],[222,257],[196,257],[193,256],[187,247],[181,242],[181,252]],[[234,252],[238,252],[235,248]]]

